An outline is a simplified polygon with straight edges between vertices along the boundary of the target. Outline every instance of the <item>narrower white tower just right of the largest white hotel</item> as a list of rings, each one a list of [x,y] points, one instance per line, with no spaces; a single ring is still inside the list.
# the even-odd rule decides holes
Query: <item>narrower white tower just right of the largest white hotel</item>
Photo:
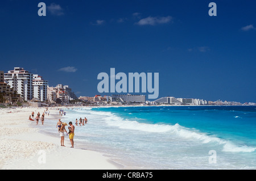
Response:
[[[38,74],[33,75],[32,85],[34,87],[34,98],[44,102],[47,100],[48,81],[44,80]]]

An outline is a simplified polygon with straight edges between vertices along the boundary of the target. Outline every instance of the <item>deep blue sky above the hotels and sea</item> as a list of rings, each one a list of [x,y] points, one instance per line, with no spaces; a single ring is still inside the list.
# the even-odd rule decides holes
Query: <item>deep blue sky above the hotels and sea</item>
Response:
[[[38,16],[38,3],[47,15]],[[209,3],[217,16],[209,16]],[[97,75],[159,73],[159,98],[256,102],[254,1],[0,2],[1,70],[98,94]],[[111,95],[111,94],[106,94]]]

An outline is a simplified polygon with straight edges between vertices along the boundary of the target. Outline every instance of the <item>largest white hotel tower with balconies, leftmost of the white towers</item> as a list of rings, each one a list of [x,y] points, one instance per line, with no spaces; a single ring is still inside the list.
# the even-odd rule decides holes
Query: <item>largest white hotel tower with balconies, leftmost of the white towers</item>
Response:
[[[23,68],[14,68],[5,73],[5,82],[26,101],[33,98],[32,79],[33,74]]]

